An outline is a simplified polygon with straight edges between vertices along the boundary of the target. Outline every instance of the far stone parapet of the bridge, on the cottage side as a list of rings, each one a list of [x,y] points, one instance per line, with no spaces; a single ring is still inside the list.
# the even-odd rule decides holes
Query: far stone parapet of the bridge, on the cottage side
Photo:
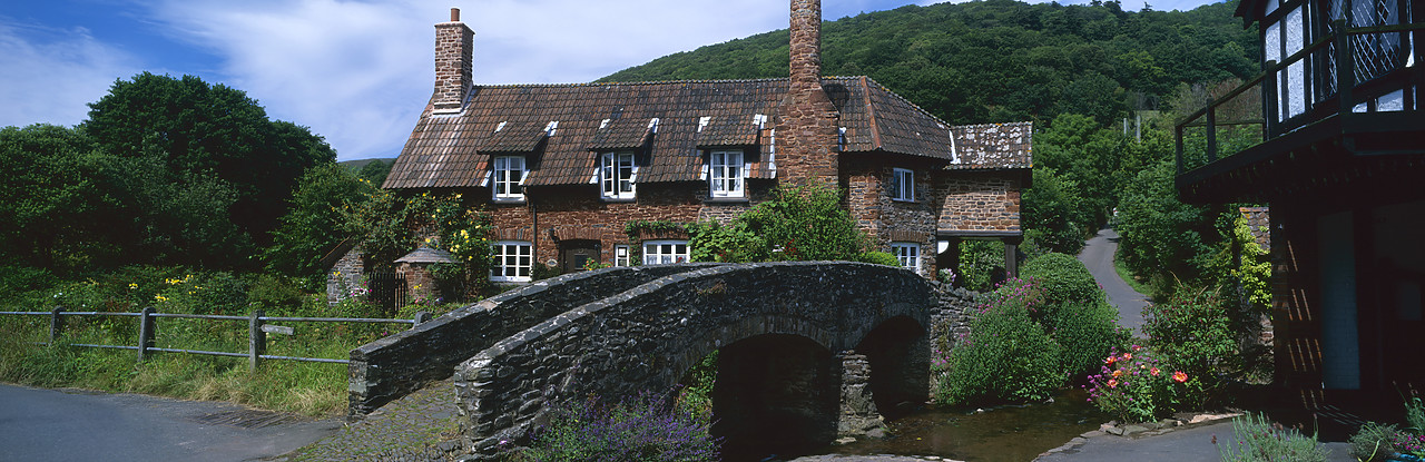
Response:
[[[366,415],[445,379],[462,361],[550,317],[708,265],[715,264],[608,268],[536,281],[358,346],[348,368],[348,416]]]

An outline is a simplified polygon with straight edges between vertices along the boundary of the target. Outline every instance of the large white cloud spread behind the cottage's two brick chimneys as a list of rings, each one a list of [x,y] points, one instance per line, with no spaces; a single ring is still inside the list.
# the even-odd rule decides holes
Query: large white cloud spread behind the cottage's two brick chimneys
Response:
[[[224,81],[275,118],[309,125],[342,158],[395,157],[435,80],[435,24],[450,1],[171,0],[175,37],[214,50]],[[475,80],[583,83],[651,58],[785,27],[785,6],[493,0],[456,4],[476,31]]]

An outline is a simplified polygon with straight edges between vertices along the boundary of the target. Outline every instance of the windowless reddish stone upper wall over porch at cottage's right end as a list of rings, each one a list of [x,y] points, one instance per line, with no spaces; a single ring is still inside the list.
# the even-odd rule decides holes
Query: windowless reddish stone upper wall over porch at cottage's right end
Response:
[[[939,231],[1023,232],[1020,187],[1009,173],[946,173],[936,181]]]

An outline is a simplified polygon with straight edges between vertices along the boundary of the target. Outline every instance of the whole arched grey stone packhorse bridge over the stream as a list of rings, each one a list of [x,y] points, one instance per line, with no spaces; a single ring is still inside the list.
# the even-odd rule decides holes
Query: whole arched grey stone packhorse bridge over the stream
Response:
[[[352,351],[352,414],[455,366],[466,449],[523,443],[546,406],[671,389],[718,351],[727,451],[797,451],[921,404],[938,298],[852,262],[613,268],[536,282]],[[443,369],[443,372],[442,372]]]

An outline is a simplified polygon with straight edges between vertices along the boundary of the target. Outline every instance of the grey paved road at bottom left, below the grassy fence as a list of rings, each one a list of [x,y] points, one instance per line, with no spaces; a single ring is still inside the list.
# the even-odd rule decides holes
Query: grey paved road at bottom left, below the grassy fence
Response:
[[[258,461],[341,429],[225,402],[0,385],[0,461]]]

